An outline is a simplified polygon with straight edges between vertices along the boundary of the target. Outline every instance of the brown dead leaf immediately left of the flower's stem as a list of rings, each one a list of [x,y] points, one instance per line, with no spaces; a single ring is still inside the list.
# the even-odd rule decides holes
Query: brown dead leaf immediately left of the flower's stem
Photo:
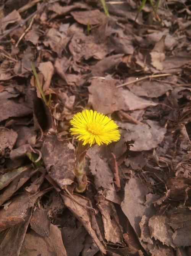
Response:
[[[42,145],[42,159],[50,177],[62,188],[74,182],[74,147],[58,140],[56,134],[47,135]]]

